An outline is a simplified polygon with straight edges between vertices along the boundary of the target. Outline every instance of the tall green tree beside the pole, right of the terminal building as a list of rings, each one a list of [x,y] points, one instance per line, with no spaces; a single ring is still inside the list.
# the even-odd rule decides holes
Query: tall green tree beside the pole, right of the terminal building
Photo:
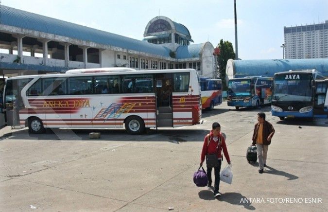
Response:
[[[218,48],[220,49],[220,54],[218,55],[219,78],[222,79],[224,90],[226,90],[226,63],[228,62],[228,59],[234,59],[236,54],[233,50],[232,43],[229,41],[223,41],[223,39],[221,39]]]

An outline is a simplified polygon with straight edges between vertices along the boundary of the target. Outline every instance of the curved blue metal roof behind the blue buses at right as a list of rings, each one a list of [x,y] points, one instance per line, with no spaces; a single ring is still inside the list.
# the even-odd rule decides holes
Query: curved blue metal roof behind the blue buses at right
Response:
[[[328,58],[234,60],[233,65],[235,77],[252,75],[263,75],[271,77],[276,72],[302,69],[316,69],[325,76],[328,76]]]

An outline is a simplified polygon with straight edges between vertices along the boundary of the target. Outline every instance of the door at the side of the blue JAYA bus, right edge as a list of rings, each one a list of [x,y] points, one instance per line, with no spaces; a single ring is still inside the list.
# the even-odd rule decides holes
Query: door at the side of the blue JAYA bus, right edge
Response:
[[[314,117],[328,117],[328,112],[325,111],[325,99],[327,96],[328,80],[315,82],[314,93]]]

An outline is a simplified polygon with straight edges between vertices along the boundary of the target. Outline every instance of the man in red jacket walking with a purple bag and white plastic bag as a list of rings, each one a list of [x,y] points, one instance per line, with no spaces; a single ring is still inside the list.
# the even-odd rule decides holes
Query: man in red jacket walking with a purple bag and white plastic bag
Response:
[[[208,142],[209,141],[209,142]],[[221,194],[219,192],[219,186],[220,186],[220,169],[221,169],[221,159],[222,159],[222,153],[221,149],[223,150],[224,157],[227,160],[228,164],[231,165],[231,161],[229,158],[228,150],[226,148],[225,139],[223,134],[221,133],[221,126],[219,123],[214,122],[212,124],[212,130],[210,134],[207,134],[204,138],[203,148],[202,148],[202,154],[201,154],[201,161],[200,165],[203,165],[203,162],[205,160],[205,156],[207,154],[216,154],[218,157],[219,165],[217,167],[214,167],[214,197],[220,197]],[[208,184],[207,187],[212,186],[212,168],[207,167],[207,178],[208,178]]]

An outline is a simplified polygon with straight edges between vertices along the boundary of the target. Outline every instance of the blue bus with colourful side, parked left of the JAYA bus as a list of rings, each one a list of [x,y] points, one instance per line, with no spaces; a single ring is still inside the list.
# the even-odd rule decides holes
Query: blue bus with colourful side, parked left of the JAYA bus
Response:
[[[228,106],[258,107],[270,104],[272,99],[272,78],[244,77],[230,79],[228,82]]]

